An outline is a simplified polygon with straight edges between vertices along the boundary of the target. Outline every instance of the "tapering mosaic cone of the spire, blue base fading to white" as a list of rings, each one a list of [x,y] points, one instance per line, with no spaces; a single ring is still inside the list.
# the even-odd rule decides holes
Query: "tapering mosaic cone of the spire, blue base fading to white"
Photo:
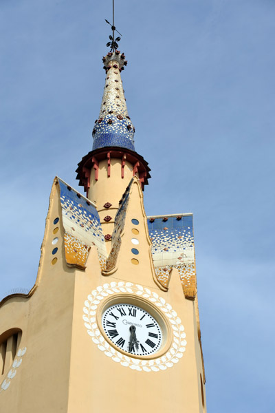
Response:
[[[100,107],[100,114],[93,130],[93,150],[103,147],[122,147],[135,151],[133,136],[135,128],[131,123],[124,98],[120,72],[127,61],[118,50],[103,57],[106,79]]]

